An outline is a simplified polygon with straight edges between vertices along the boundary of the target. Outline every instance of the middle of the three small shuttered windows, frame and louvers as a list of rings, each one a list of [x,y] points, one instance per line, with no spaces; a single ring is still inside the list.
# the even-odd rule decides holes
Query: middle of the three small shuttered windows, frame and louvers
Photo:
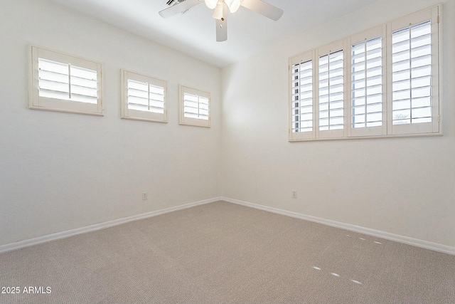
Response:
[[[127,70],[122,72],[122,118],[166,122],[166,81]]]

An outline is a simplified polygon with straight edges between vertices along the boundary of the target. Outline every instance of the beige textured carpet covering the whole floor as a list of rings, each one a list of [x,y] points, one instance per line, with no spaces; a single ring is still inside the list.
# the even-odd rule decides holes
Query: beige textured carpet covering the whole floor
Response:
[[[455,303],[455,256],[220,201],[2,253],[0,286],[21,289],[0,303]]]

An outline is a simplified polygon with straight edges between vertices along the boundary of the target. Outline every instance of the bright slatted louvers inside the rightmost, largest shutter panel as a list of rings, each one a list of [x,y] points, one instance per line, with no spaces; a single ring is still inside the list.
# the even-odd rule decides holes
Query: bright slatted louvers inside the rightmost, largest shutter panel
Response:
[[[392,123],[432,122],[431,21],[392,33]]]

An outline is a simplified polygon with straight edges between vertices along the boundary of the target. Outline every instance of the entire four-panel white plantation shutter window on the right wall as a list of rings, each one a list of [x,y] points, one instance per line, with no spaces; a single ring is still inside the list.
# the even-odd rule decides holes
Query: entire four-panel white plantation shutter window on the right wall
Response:
[[[441,135],[440,7],[289,58],[289,141]]]

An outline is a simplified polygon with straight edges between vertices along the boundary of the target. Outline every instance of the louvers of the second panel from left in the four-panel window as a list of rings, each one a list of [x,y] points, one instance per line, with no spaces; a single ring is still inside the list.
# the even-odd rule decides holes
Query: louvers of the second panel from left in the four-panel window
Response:
[[[344,125],[343,50],[319,57],[319,130]]]

